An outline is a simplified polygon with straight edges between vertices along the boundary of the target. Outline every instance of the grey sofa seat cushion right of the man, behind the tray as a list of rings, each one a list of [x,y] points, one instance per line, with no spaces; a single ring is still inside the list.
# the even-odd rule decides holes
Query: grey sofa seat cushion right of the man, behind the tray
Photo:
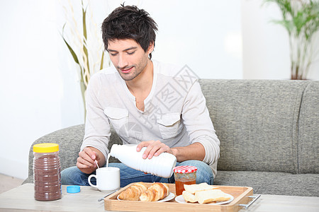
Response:
[[[319,175],[316,174],[218,171],[214,184],[252,187],[254,194],[319,196]]]

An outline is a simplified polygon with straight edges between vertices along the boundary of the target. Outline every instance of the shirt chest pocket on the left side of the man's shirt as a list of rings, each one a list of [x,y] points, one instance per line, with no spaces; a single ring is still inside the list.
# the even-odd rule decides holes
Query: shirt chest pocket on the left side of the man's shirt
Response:
[[[128,110],[117,107],[106,107],[104,109],[104,114],[110,120],[113,128],[118,133],[121,127],[128,124]]]

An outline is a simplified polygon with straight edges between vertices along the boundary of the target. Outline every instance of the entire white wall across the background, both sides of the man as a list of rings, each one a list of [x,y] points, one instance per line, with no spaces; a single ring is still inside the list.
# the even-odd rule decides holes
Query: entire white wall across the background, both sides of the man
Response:
[[[120,2],[91,1],[96,23]],[[125,4],[138,4],[157,22],[154,59],[187,64],[200,78],[289,78],[286,32],[268,22],[279,11],[261,2]],[[60,36],[63,17],[60,1],[0,1],[0,173],[26,178],[35,139],[84,123],[77,66]]]

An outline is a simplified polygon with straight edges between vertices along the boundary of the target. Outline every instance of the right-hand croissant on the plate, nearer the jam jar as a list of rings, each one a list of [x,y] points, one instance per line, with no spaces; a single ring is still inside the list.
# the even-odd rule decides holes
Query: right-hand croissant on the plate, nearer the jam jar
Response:
[[[140,194],[140,201],[157,201],[169,194],[169,187],[165,183],[155,182],[145,192]]]

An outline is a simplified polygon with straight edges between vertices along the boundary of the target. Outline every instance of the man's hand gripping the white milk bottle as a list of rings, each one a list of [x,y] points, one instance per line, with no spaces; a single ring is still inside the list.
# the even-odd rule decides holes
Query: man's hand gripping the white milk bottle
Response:
[[[136,151],[140,151],[143,147],[147,147],[144,151],[144,154],[142,155],[142,158],[151,159],[153,156],[158,156],[162,153],[171,153],[174,155],[175,151],[172,148],[169,148],[165,143],[162,143],[161,141],[142,141],[138,144],[138,147],[136,148]]]

